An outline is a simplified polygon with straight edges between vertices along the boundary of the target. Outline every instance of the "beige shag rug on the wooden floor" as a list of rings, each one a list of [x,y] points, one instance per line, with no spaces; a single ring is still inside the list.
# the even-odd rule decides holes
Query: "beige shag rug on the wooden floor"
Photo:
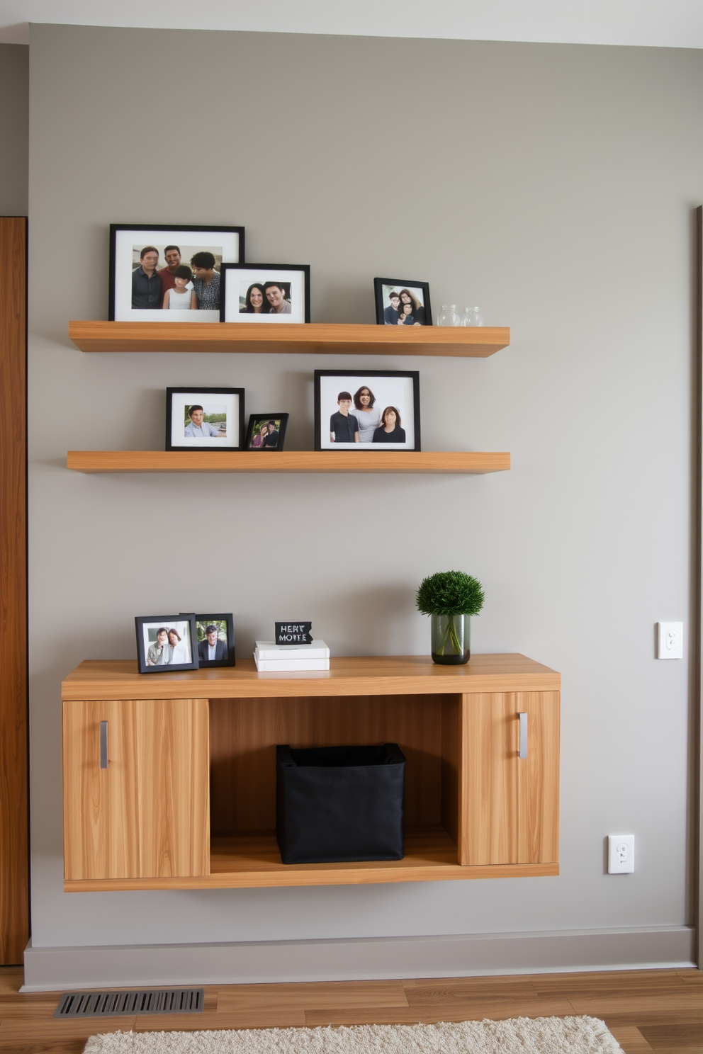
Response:
[[[595,1017],[513,1017],[456,1024],[112,1032],[91,1036],[84,1054],[616,1054]]]

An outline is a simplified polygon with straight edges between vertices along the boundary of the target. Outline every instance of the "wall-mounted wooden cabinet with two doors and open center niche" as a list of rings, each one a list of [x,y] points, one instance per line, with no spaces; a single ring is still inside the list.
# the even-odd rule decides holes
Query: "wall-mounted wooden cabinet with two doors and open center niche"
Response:
[[[67,891],[329,885],[559,874],[559,687],[524,656],[336,659],[63,682]],[[282,864],[276,743],[397,742],[403,860]]]

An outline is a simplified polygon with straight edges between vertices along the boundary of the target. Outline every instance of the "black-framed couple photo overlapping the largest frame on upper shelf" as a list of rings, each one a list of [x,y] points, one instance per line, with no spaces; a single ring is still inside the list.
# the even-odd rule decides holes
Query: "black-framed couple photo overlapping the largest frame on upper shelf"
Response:
[[[223,323],[309,323],[308,264],[223,264]]]

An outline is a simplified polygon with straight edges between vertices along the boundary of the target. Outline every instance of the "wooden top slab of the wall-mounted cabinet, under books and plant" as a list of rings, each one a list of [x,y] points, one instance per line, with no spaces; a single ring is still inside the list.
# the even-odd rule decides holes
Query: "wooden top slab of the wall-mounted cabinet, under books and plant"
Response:
[[[464,666],[429,656],[331,659],[320,671],[259,674],[253,659],[236,666],[138,674],[134,660],[85,660],[61,684],[63,700],[199,699],[285,696],[384,696],[456,691],[553,691],[560,675],[521,655],[474,655]]]

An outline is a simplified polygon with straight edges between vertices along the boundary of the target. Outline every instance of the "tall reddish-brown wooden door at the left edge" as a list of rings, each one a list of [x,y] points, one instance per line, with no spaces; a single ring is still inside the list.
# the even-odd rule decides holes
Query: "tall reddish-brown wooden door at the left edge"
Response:
[[[0,218],[0,963],[30,936],[26,680],[26,219]]]

